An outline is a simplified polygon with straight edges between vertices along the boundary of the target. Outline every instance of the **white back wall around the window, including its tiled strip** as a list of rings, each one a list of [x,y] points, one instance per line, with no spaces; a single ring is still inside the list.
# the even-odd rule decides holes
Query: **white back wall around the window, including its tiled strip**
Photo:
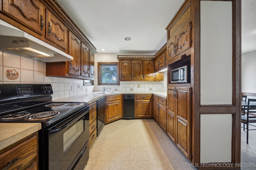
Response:
[[[118,54],[102,54],[97,53],[94,57],[95,72],[98,73],[98,62],[118,62]],[[138,54],[136,54],[138,55]],[[94,91],[100,92],[103,86],[98,86],[98,74],[94,78]],[[138,88],[139,86],[139,88]],[[105,86],[110,87],[111,91],[118,92],[148,92],[148,91],[167,91],[167,75],[164,73],[164,81],[120,81],[119,86]]]

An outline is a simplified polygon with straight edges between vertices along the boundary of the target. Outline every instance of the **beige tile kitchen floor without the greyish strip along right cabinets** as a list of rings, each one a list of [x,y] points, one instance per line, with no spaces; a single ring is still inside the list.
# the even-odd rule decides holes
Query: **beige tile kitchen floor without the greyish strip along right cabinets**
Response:
[[[154,119],[150,121],[156,123]],[[150,128],[148,119],[121,119],[104,126],[90,150],[84,170],[174,168]]]

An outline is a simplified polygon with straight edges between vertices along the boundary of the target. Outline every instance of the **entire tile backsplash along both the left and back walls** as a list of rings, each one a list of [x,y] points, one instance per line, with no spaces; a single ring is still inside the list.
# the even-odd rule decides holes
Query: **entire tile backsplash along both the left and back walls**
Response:
[[[95,72],[97,73],[97,62]],[[48,77],[46,75],[46,63],[14,55],[0,50],[0,84],[52,84],[54,94],[52,100],[68,98],[89,92],[101,92],[103,86],[98,86],[98,75],[95,75],[94,85],[83,86],[84,81],[72,78]],[[166,72],[164,81],[160,82],[120,82],[118,86],[106,86],[111,91],[118,92],[148,92],[166,91]]]

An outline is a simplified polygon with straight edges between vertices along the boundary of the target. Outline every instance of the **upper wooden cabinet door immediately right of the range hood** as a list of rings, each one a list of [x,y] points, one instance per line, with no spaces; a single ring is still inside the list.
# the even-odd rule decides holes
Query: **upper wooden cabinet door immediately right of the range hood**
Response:
[[[72,61],[68,62],[68,73],[80,76],[80,47],[81,41],[70,32],[70,41],[69,41],[69,55],[73,57]]]

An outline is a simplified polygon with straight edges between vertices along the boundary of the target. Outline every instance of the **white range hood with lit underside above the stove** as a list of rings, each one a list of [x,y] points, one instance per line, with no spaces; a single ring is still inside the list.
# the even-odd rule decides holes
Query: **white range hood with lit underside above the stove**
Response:
[[[0,20],[0,50],[45,63],[73,60],[72,56],[3,20]]]

